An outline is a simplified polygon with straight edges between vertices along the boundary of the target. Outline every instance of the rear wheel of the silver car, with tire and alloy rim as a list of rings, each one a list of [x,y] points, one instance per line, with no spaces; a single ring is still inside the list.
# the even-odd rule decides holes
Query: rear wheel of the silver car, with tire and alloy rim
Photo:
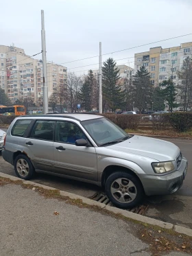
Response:
[[[25,154],[19,154],[14,159],[14,171],[23,180],[30,180],[35,175],[34,166]]]

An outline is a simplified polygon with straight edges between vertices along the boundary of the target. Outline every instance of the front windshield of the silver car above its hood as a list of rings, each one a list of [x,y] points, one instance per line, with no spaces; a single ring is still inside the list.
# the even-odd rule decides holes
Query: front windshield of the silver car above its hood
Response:
[[[81,124],[98,146],[128,137],[124,130],[105,118],[82,121]]]

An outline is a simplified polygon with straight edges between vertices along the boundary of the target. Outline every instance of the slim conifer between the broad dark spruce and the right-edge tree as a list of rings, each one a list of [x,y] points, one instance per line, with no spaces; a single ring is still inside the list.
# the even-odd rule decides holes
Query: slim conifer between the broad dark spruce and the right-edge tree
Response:
[[[171,112],[173,111],[173,108],[178,106],[176,103],[176,87],[171,79],[164,80],[162,83],[160,83],[159,95],[165,98]]]

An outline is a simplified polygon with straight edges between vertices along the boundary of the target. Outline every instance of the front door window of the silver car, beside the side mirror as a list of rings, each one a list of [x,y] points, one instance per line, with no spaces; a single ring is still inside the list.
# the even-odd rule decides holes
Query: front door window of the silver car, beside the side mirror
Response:
[[[58,121],[56,141],[75,144],[77,139],[86,139],[79,126],[69,121]]]

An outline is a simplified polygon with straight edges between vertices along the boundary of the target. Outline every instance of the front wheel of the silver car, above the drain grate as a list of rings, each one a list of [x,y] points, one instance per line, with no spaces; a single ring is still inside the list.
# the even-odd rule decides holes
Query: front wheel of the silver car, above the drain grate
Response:
[[[113,205],[128,209],[139,205],[145,195],[138,178],[127,172],[114,172],[105,184],[106,195]]]

